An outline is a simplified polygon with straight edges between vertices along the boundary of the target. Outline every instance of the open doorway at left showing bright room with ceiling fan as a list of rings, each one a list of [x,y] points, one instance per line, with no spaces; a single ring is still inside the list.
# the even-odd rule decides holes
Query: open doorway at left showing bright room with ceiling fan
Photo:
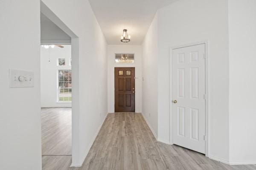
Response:
[[[43,169],[72,161],[71,37],[41,13],[41,143]]]

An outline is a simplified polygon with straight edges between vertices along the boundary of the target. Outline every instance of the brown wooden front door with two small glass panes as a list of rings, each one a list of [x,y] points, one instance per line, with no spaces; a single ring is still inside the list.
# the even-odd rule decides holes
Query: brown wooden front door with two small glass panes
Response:
[[[135,112],[135,68],[115,68],[115,112]]]

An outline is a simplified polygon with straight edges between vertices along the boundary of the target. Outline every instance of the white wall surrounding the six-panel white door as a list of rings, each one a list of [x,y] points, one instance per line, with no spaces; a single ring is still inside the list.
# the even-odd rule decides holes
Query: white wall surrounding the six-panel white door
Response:
[[[229,160],[227,7],[227,0],[179,0],[157,11],[158,139],[168,142],[172,136],[172,129],[169,130],[172,127],[169,125],[172,122],[172,108],[169,108],[169,88],[172,88],[169,84],[169,69],[172,69],[169,67],[170,48],[208,41],[209,156],[224,162]],[[155,126],[153,124],[151,126]]]

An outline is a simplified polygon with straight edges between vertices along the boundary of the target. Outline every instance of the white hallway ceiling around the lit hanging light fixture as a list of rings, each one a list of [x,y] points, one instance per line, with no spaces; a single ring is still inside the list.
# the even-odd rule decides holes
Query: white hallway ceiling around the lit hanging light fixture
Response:
[[[110,45],[140,45],[157,9],[176,0],[89,0]],[[122,43],[122,30],[128,29],[131,42]]]

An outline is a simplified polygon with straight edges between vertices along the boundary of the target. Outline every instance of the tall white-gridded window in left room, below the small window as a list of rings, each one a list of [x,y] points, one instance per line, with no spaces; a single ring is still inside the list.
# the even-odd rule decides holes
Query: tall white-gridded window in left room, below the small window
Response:
[[[71,70],[58,70],[58,102],[72,101]]]

